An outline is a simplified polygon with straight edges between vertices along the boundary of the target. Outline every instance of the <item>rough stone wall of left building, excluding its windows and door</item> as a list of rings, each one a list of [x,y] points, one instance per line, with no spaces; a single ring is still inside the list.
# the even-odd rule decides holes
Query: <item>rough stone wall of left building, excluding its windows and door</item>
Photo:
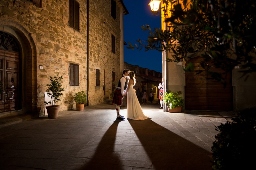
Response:
[[[112,71],[120,74],[120,16],[116,9],[116,19],[111,17],[110,0],[89,1],[89,52],[87,52],[87,6],[80,4],[80,31],[68,25],[68,0],[44,0],[38,7],[27,0],[1,0],[0,31],[12,34],[19,40],[22,55],[23,100],[27,93],[36,96],[28,102],[36,105],[40,115],[44,114],[44,92],[49,76],[63,75],[65,91],[58,105],[61,111],[74,108],[72,96],[78,91],[87,91],[89,79],[89,104],[103,103],[112,88]],[[13,24],[15,23],[15,24]],[[5,28],[5,29],[4,29]],[[21,34],[26,38],[20,39]],[[111,34],[116,37],[116,53],[111,52]],[[26,43],[26,44],[25,44]],[[35,49],[34,49],[35,48]],[[27,51],[26,49],[31,49]],[[33,53],[34,49],[34,53]],[[89,53],[89,59],[87,59]],[[121,56],[123,57],[123,56]],[[35,62],[29,66],[29,61]],[[89,78],[87,77],[89,62]],[[27,64],[26,64],[27,63]],[[69,63],[79,65],[79,86],[69,86]],[[43,69],[39,70],[38,66]],[[32,68],[31,68],[32,67]],[[30,71],[26,72],[30,68]],[[96,69],[100,70],[100,87],[96,87]],[[104,95],[103,83],[106,86]],[[31,88],[26,88],[28,85]],[[32,92],[28,92],[28,91]],[[35,91],[36,94],[33,94]],[[24,110],[26,103],[23,101]]]

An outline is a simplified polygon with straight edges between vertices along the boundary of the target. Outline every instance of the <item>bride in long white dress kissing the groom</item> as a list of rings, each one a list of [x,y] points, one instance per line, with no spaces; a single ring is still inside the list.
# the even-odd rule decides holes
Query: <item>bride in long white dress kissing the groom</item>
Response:
[[[127,118],[132,120],[145,120],[148,117],[144,115],[135,93],[136,90],[133,89],[133,86],[136,83],[135,74],[133,71],[130,71],[128,76],[130,77],[130,80],[128,87],[124,92],[124,95],[127,93]]]

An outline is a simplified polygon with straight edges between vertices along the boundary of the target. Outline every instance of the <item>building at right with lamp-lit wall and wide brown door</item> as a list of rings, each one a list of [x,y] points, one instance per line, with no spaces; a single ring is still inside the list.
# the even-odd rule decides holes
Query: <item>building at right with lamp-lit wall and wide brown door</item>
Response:
[[[179,2],[177,2],[179,3]],[[182,3],[182,1],[180,2]],[[162,9],[165,9],[163,1],[161,1]],[[170,6],[169,6],[170,7]],[[168,8],[169,8],[168,7]],[[167,30],[164,18],[170,17],[169,10],[161,10],[162,29]],[[162,53],[163,79],[165,83],[164,91],[172,92],[182,91],[185,99],[185,107],[183,110],[217,110],[217,111],[241,111],[256,106],[254,96],[256,96],[256,73],[250,73],[244,76],[239,66],[227,73],[227,85],[224,88],[219,81],[211,79],[210,74],[196,74],[195,72],[184,72],[183,68],[188,62],[193,63],[196,71],[200,67],[200,61],[204,52],[198,52],[188,55],[188,62],[168,62],[166,58],[172,59],[172,53],[163,51]],[[252,63],[255,63],[255,53]],[[233,57],[233,56],[232,56]],[[212,67],[214,72],[222,73],[220,68]],[[165,111],[168,109],[165,107]]]

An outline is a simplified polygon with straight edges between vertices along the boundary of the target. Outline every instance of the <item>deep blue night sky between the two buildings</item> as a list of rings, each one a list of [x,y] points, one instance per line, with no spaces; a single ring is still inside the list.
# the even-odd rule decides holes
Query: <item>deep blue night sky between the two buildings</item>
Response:
[[[161,27],[161,16],[153,15],[148,6],[149,2],[150,0],[124,0],[124,5],[129,11],[128,15],[124,15],[124,41],[127,43],[124,46],[124,61],[162,73],[161,52],[126,48],[129,46],[128,42],[134,45],[137,39],[148,39],[147,32],[142,31],[141,26],[149,25],[151,29]]]

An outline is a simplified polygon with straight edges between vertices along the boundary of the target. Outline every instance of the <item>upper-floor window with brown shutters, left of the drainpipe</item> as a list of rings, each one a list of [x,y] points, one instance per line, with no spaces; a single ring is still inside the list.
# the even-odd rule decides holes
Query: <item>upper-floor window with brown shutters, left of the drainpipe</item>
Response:
[[[69,0],[69,26],[79,31],[79,3]]]

